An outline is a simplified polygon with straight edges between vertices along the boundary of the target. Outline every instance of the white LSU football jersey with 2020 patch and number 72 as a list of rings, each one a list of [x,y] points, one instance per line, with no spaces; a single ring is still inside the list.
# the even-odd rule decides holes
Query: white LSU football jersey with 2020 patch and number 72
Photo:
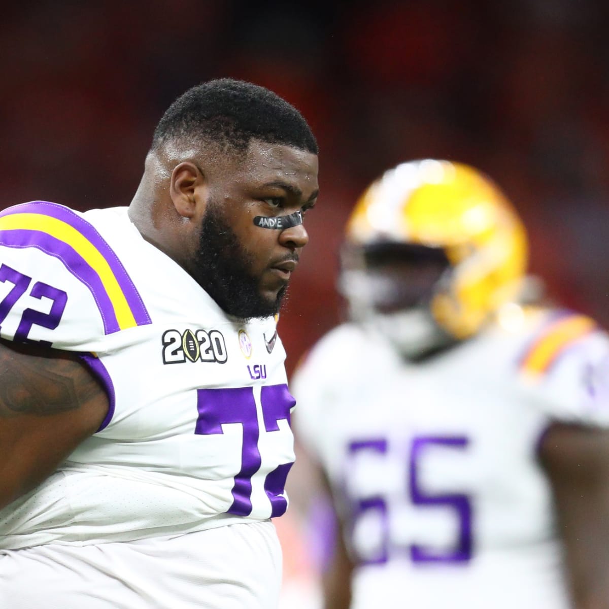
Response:
[[[0,548],[90,544],[280,516],[294,461],[276,320],[227,316],[127,208],[0,213],[0,336],[75,351],[110,411],[31,493]]]

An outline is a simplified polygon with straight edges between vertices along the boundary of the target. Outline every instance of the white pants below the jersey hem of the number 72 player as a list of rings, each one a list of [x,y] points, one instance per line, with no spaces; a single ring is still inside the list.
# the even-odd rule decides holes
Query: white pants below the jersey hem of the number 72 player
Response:
[[[275,609],[281,549],[270,521],[97,546],[0,555],[2,609]]]

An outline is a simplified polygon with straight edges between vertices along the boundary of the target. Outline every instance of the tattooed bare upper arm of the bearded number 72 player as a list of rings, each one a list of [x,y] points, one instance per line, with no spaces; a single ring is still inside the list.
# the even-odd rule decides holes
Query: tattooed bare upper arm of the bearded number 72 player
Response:
[[[75,354],[0,340],[0,508],[52,474],[107,412]]]

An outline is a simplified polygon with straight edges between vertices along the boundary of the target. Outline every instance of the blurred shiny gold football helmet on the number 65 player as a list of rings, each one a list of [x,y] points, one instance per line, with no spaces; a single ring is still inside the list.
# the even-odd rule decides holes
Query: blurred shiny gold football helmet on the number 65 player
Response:
[[[352,311],[379,311],[375,295],[384,288],[366,279],[375,276],[370,252],[400,245],[410,258],[424,252],[423,258],[434,252],[445,257],[445,269],[421,294],[418,308],[454,339],[475,334],[521,290],[524,226],[499,188],[465,164],[403,163],[364,191],[348,220],[342,252],[340,285]]]

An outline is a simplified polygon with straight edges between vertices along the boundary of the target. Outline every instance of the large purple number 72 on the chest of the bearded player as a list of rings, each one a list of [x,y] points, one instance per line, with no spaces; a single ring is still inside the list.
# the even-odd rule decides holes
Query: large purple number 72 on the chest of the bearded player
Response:
[[[262,387],[260,403],[267,432],[279,431],[280,419],[287,419],[290,424],[290,409],[296,402],[287,390],[287,385]],[[258,449],[260,432],[253,387],[197,389],[197,410],[199,418],[194,431],[197,435],[224,434],[223,424],[242,425],[241,470],[234,477],[231,490],[233,503],[227,512],[248,516],[252,513],[252,476],[262,464]],[[287,501],[282,495],[291,466],[292,463],[278,465],[265,478],[264,490],[271,504],[272,518],[281,516],[286,511]]]

